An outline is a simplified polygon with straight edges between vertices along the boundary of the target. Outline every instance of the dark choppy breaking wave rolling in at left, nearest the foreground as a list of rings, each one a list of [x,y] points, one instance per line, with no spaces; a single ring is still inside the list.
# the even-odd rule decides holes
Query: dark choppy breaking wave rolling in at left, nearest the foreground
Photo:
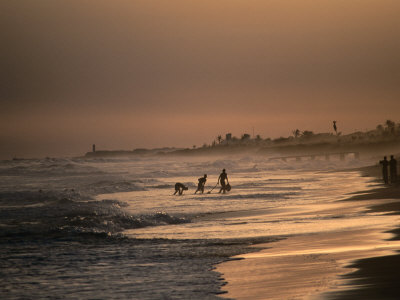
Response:
[[[132,215],[117,200],[82,200],[73,191],[15,192],[1,194],[0,237],[20,235],[120,235],[146,226],[188,223],[189,219],[165,212]],[[6,202],[5,199],[13,199]]]

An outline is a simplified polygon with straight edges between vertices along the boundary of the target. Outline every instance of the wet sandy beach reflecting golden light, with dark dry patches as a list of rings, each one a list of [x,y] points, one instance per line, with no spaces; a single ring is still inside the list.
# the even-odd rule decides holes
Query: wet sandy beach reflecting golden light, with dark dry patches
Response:
[[[362,170],[370,176],[378,167]],[[379,186],[340,202],[383,217],[400,214],[400,186]],[[338,210],[343,206],[338,206]],[[340,220],[338,220],[340,222]],[[400,230],[370,226],[289,236],[217,266],[234,299],[398,299]]]

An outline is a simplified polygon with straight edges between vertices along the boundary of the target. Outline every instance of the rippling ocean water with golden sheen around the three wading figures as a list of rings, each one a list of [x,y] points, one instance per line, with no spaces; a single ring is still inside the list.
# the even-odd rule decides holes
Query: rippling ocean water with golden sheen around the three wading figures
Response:
[[[216,264],[252,245],[386,222],[332,209],[376,185],[343,171],[369,163],[253,155],[1,161],[0,298],[220,299],[226,282]],[[223,168],[232,190],[208,193]],[[205,173],[205,193],[194,195]],[[176,182],[189,190],[174,196]]]

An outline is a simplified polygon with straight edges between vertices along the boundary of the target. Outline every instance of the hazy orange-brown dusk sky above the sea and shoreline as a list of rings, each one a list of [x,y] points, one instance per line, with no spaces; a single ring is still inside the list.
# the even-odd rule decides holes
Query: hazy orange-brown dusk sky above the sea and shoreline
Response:
[[[0,158],[400,122],[398,0],[4,0]]]

